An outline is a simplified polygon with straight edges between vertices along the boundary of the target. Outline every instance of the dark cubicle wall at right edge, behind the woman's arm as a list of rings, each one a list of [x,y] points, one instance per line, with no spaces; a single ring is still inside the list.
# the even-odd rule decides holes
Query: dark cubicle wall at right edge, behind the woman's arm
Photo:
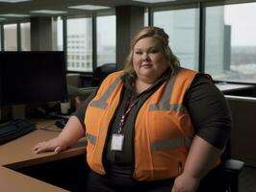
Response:
[[[231,155],[256,167],[256,97],[225,97],[233,118]]]

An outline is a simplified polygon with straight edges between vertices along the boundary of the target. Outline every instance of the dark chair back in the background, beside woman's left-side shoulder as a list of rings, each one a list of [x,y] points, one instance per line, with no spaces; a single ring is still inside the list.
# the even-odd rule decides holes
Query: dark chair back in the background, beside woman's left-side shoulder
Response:
[[[92,86],[98,86],[109,74],[116,71],[116,63],[105,63],[98,66],[92,74]]]

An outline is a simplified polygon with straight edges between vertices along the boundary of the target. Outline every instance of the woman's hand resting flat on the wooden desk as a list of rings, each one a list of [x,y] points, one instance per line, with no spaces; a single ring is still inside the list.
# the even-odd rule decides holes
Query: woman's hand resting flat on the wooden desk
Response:
[[[34,148],[35,154],[41,154],[44,152],[54,152],[56,154],[64,151],[67,148],[66,142],[60,137],[56,137],[47,141],[39,142]]]

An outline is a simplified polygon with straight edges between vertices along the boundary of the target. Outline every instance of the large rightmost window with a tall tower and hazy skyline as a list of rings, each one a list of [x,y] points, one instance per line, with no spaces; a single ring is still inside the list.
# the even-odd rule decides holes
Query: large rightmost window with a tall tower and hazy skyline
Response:
[[[206,8],[205,71],[215,80],[256,83],[255,10],[256,3]]]

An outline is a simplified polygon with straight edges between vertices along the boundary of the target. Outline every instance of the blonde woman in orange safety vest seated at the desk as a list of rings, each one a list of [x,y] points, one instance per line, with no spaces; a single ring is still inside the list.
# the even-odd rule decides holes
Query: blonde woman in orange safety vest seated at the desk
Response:
[[[230,134],[230,113],[209,76],[181,68],[163,29],[134,36],[123,71],[107,77],[36,153],[59,153],[85,134],[87,191],[194,192]]]

